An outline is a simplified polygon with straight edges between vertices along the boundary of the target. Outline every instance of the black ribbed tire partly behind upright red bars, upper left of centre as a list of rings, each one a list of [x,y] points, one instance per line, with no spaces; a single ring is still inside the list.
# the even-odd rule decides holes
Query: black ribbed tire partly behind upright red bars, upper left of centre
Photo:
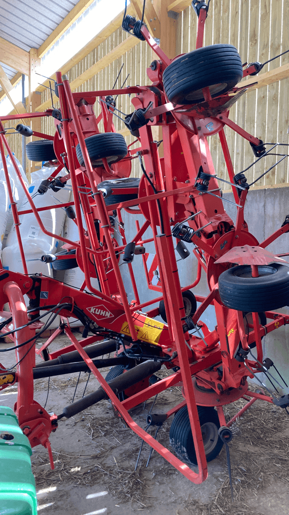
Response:
[[[85,139],[88,156],[93,166],[103,166],[102,159],[106,158],[109,164],[123,159],[128,153],[127,143],[122,134],[118,132],[102,132]],[[76,146],[76,155],[81,166],[84,166],[80,145]]]

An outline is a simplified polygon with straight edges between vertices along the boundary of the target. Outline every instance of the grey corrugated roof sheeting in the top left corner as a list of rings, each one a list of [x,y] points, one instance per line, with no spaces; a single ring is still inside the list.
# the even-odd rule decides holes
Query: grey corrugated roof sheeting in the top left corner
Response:
[[[0,0],[0,36],[26,52],[39,48],[79,0]],[[7,76],[17,73],[0,63]],[[0,88],[1,89],[1,88]]]

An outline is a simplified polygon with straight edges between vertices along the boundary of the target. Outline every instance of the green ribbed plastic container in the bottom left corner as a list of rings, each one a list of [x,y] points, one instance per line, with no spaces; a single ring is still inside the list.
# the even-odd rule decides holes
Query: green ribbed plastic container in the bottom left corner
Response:
[[[0,515],[37,515],[31,445],[14,411],[0,407]]]

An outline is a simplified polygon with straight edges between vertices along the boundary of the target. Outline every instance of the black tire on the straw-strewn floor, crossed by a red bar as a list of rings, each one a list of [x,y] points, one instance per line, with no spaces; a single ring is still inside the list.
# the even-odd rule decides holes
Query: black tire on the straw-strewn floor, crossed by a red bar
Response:
[[[220,427],[218,413],[213,407],[207,406],[197,406],[197,412],[202,429],[206,459],[212,461],[223,447],[223,442],[218,435]],[[191,465],[197,465],[187,406],[181,408],[172,421],[170,443],[180,459]]]

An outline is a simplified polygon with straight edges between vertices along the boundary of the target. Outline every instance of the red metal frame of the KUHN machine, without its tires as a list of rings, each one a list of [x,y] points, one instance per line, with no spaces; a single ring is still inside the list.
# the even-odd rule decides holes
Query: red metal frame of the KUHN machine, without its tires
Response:
[[[201,9],[198,19],[197,48],[203,44],[205,18],[206,11]],[[158,47],[144,26],[141,28],[141,32],[159,57],[159,61],[156,61],[157,65],[155,71],[153,71],[152,68],[148,69],[148,76],[155,88],[158,87],[158,94],[146,86],[128,87],[124,90],[71,93],[67,77],[61,76],[61,73],[57,72],[62,120],[60,121],[55,118],[56,134],[53,141],[59,167],[57,171],[51,175],[50,180],[52,180],[63,167],[62,157],[64,156],[69,169],[69,177],[71,179],[75,199],[74,202],[48,206],[38,210],[35,208],[5,139],[3,122],[17,119],[20,115],[3,116],[1,118],[0,151],[4,163],[24,274],[0,270],[0,308],[2,309],[3,305],[7,301],[9,302],[14,328],[21,327],[27,323],[28,316],[23,295],[26,294],[30,299],[35,299],[35,278],[29,277],[27,274],[25,254],[19,231],[19,215],[33,212],[41,230],[45,234],[57,237],[63,241],[65,248],[76,249],[76,259],[85,275],[85,288],[91,292],[90,294],[86,293],[86,291],[83,290],[84,285],[80,290],[76,290],[54,279],[40,277],[38,278],[38,284],[40,284],[41,291],[47,292],[47,298],[39,297],[39,310],[40,308],[44,311],[48,310],[48,306],[53,303],[53,305],[56,306],[55,311],[57,311],[58,305],[65,300],[71,307],[69,309],[68,307],[63,307],[60,315],[62,319],[68,319],[71,316],[76,318],[73,309],[74,306],[79,306],[85,315],[89,317],[92,322],[95,322],[103,328],[103,331],[106,331],[107,334],[113,334],[114,337],[116,337],[116,335],[125,335],[127,338],[125,340],[126,346],[132,345],[136,341],[141,342],[141,345],[144,346],[150,345],[151,348],[153,346],[158,352],[156,355],[171,358],[171,361],[166,362],[166,366],[168,368],[177,367],[177,371],[156,384],[146,387],[141,391],[136,391],[128,399],[121,402],[103,379],[92,359],[88,357],[84,349],[86,345],[99,341],[102,337],[101,334],[104,333],[101,333],[101,331],[97,332],[95,336],[83,338],[83,340],[79,342],[74,337],[67,324],[64,331],[71,344],[64,349],[48,354],[49,359],[53,359],[61,354],[76,349],[89,369],[91,369],[93,374],[97,377],[104,391],[110,397],[119,416],[129,425],[132,431],[149,443],[159,454],[192,482],[202,483],[207,477],[207,463],[202,440],[202,431],[200,422],[198,421],[197,404],[216,406],[221,425],[225,425],[226,422],[222,411],[223,404],[244,398],[244,395],[251,396],[252,400],[248,401],[248,404],[239,412],[239,414],[241,414],[255,402],[257,398],[272,402],[272,399],[268,396],[247,391],[246,379],[247,377],[253,377],[254,373],[260,372],[260,365],[257,362],[247,360],[240,363],[234,358],[234,355],[237,352],[240,341],[245,350],[248,349],[248,345],[251,342],[256,341],[258,361],[262,362],[262,336],[267,334],[267,332],[281,327],[281,325],[285,323],[289,323],[289,316],[268,312],[266,316],[268,319],[272,319],[272,322],[261,327],[257,314],[253,314],[254,330],[246,335],[242,313],[226,308],[222,304],[218,294],[218,277],[229,265],[227,263],[214,265],[214,262],[232,247],[258,245],[258,242],[256,238],[248,232],[247,225],[244,221],[243,207],[247,190],[243,191],[239,198],[236,188],[233,188],[234,200],[238,209],[236,226],[234,226],[232,220],[224,210],[218,181],[215,177],[215,170],[209,152],[207,137],[210,134],[219,133],[230,182],[233,182],[234,170],[223,130],[224,125],[238,132],[244,139],[254,145],[259,145],[260,140],[230,121],[228,118],[228,102],[231,97],[229,97],[228,94],[211,99],[208,88],[205,88],[204,97],[206,106],[203,106],[202,103],[194,106],[174,106],[168,102],[162,87],[162,71],[170,64],[171,60]],[[244,75],[247,74],[245,73]],[[233,93],[236,94],[234,101],[239,98],[238,94],[243,92],[242,88],[234,88]],[[101,120],[103,121],[105,132],[115,132],[115,128],[112,117],[114,111],[113,107],[109,108],[104,102],[101,102],[101,115],[96,118],[93,111],[93,104],[98,97],[105,99],[106,95],[121,95],[127,93],[136,94],[136,96],[132,98],[132,104],[135,110],[146,109],[150,102],[153,102],[153,105],[145,115],[150,121],[147,125],[139,129],[140,136],[138,139],[141,147],[132,151],[128,150],[128,155],[119,163],[109,166],[106,159],[103,159],[103,166],[95,168],[92,166],[89,159],[85,146],[85,138],[99,133],[98,124]],[[232,103],[232,100],[230,101]],[[221,114],[215,115],[214,109],[216,106],[223,106],[224,111]],[[21,114],[21,118],[51,115],[52,110],[50,109],[44,113]],[[189,120],[193,121],[193,124],[191,122],[189,123]],[[206,128],[208,121],[215,122],[215,129],[211,133]],[[153,142],[152,138],[151,127],[156,125],[162,126],[164,159],[159,158],[157,144]],[[49,135],[42,136],[51,139]],[[78,143],[84,158],[84,166],[79,166],[76,158],[75,147]],[[30,204],[31,209],[29,210],[17,211],[10,186],[4,149],[8,152],[22,183]],[[128,177],[131,169],[130,162],[131,159],[134,159],[133,154],[136,152],[142,155],[147,174],[158,193],[153,192],[151,184],[143,177],[143,179],[141,179],[138,199],[106,206],[101,192],[98,191],[97,185],[104,179]],[[201,166],[206,174],[210,174],[211,180],[208,192],[204,191],[200,193],[195,185],[198,170]],[[84,187],[86,190],[84,190]],[[213,197],[211,196],[212,192],[214,192]],[[118,193],[121,193],[120,190],[118,190]],[[128,191],[126,189],[123,190],[123,193],[135,193],[135,191]],[[159,202],[158,205],[156,201]],[[52,207],[53,209],[56,207],[67,207],[68,205],[75,206],[76,222],[80,238],[78,242],[69,241],[66,238],[46,231],[38,214],[38,212],[42,210],[51,209]],[[145,215],[147,221],[143,224],[142,228],[139,228],[137,224],[137,233],[133,238],[133,242],[137,245],[143,245],[145,242],[154,241],[161,280],[161,288],[158,286],[155,289],[160,290],[162,295],[152,301],[142,302],[138,294],[137,282],[134,277],[132,265],[129,264],[130,278],[135,295],[135,300],[129,303],[119,269],[119,258],[116,256],[116,252],[123,251],[127,245],[125,231],[120,226],[123,242],[122,245],[116,244],[113,238],[114,229],[111,227],[109,215],[112,214],[113,210],[117,210],[118,220],[121,224],[120,209],[124,208],[129,210],[129,208],[136,205],[140,212]],[[83,228],[81,208],[84,213],[87,230]],[[182,222],[192,213],[198,213],[193,219],[187,222],[189,227],[194,231],[191,241],[195,245],[194,254],[198,260],[197,277],[192,284],[181,288],[171,226],[175,225],[177,222]],[[99,232],[96,230],[96,221],[99,222]],[[142,236],[149,227],[151,228],[153,237],[143,240]],[[161,230],[159,228],[161,228]],[[284,232],[287,232],[286,226],[267,238],[260,244],[260,247],[266,247]],[[104,260],[107,260],[107,258],[109,258],[108,267],[104,264],[106,263]],[[65,256],[63,256],[62,259],[65,259]],[[194,288],[200,281],[202,269],[207,273],[210,294],[206,298],[196,296],[197,301],[201,302],[201,305],[198,307],[192,320],[195,324],[198,324],[198,328],[202,328],[204,337],[200,337],[200,333],[197,333],[197,335],[190,334],[186,329],[184,332],[186,321],[182,297],[183,291]],[[109,274],[108,272],[111,273]],[[96,276],[99,279],[100,290],[94,288],[91,283],[91,278]],[[165,303],[168,318],[167,324],[157,322],[153,319],[153,317],[159,313],[158,308],[152,309],[149,313],[141,311],[143,308],[162,299]],[[217,319],[217,327],[212,332],[208,330],[206,324],[200,319],[208,305],[214,305]],[[35,312],[36,311],[37,310],[35,310]],[[31,327],[32,326],[30,326],[30,328]],[[7,330],[4,328],[3,332],[7,332]],[[15,344],[22,344],[30,339],[31,336],[35,335],[35,326],[32,327],[32,330],[25,327],[15,334]],[[51,341],[55,339],[58,334],[60,334],[60,329],[46,341],[42,348],[37,351],[37,354],[41,355],[44,351],[47,352]],[[17,362],[20,363],[17,366],[17,372],[12,373],[14,377],[13,381],[17,381],[19,387],[19,395],[15,409],[19,416],[20,425],[27,434],[31,445],[42,443],[49,451],[48,437],[50,432],[56,428],[56,416],[49,416],[46,411],[42,407],[39,407],[38,403],[35,403],[33,400],[32,369],[34,367],[35,349],[33,342],[30,345],[30,349],[29,344],[26,344],[16,350]],[[220,365],[222,365],[222,373],[220,372]],[[11,378],[9,381],[7,379],[5,383],[4,376],[5,373],[0,374],[1,389],[11,384]],[[8,377],[7,373],[6,376]],[[193,472],[168,451],[168,449],[148,435],[148,433],[136,424],[128,413],[129,409],[140,402],[150,399],[156,393],[164,391],[179,382],[182,382],[184,385],[185,401],[168,411],[167,416],[175,413],[175,411],[185,403],[187,404],[196,449],[198,473]],[[211,388],[212,393],[201,395],[200,390],[198,390],[200,386]],[[224,393],[226,393],[226,395],[224,395]],[[222,395],[223,397],[220,401],[219,398]],[[237,416],[238,415],[236,415],[236,417]],[[231,425],[233,420],[234,418],[227,423],[227,426]]]

